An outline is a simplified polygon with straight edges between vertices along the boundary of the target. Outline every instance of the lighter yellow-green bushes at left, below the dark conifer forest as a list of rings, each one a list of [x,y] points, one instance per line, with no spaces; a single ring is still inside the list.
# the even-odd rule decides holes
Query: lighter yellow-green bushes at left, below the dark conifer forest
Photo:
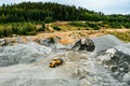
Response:
[[[44,31],[44,23],[10,23],[0,25],[0,38],[12,34],[34,35],[38,31]]]

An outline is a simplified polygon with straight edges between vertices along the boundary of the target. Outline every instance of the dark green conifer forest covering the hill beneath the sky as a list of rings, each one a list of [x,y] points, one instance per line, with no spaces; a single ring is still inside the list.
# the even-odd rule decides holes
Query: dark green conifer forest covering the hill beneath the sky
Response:
[[[15,22],[54,22],[54,20],[90,20],[90,22],[130,22],[130,15],[104,15],[75,5],[51,2],[22,2],[0,6],[0,23]]]

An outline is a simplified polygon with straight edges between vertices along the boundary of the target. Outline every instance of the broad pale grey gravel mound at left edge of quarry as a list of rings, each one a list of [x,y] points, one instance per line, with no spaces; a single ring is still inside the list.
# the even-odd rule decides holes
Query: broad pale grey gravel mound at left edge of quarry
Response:
[[[34,62],[38,58],[43,58],[43,55],[51,53],[51,48],[34,42],[4,46],[0,48],[0,67]]]

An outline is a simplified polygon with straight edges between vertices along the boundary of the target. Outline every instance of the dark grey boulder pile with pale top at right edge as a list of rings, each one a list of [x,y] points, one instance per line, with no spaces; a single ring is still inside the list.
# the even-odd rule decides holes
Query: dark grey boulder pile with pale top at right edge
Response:
[[[112,66],[112,72],[113,76],[118,81],[126,78],[123,75],[130,72],[129,52],[130,44],[121,44],[106,51],[107,58],[110,57],[109,62],[115,62]]]

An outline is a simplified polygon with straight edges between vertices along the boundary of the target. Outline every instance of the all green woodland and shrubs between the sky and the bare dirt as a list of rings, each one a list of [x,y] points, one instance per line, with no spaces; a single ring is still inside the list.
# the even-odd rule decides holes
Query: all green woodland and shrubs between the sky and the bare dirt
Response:
[[[80,26],[75,22],[87,22],[84,27],[107,25],[108,28],[130,28],[130,15],[112,14],[89,11],[75,5],[52,2],[22,2],[18,4],[2,4],[0,6],[0,38],[14,34],[36,34],[44,31],[44,24],[52,22],[72,22],[73,26]],[[91,24],[94,22],[93,24]],[[101,23],[102,25],[96,25]],[[37,25],[41,25],[37,28]],[[82,26],[82,25],[81,25]],[[95,30],[100,29],[96,28]]]

